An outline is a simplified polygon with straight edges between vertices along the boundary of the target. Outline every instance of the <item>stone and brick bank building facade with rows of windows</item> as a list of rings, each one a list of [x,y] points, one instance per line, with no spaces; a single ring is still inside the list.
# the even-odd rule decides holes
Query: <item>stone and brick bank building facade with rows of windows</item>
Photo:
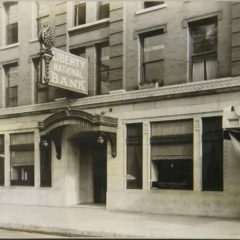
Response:
[[[0,202],[240,217],[239,22],[229,1],[2,1]],[[88,95],[39,83],[44,24]]]

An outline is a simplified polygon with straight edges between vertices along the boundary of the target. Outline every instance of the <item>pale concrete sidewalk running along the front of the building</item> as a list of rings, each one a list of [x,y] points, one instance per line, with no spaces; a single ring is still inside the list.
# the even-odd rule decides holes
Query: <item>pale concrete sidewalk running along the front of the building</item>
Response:
[[[0,204],[0,228],[74,237],[240,239],[240,219],[113,212],[91,207]]]

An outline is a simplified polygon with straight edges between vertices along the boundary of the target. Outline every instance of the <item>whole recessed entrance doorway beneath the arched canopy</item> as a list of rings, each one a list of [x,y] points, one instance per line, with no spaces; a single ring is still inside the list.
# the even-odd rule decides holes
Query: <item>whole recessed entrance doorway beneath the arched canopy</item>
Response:
[[[107,144],[97,134],[84,134],[80,146],[80,204],[106,204]]]

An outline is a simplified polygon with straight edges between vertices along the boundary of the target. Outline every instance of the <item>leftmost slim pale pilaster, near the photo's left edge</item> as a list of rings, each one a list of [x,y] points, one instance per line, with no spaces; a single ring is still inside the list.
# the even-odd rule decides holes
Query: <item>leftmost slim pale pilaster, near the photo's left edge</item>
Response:
[[[4,183],[6,187],[10,186],[10,136],[8,133],[5,134],[5,144],[4,144],[4,153],[5,153],[5,164],[4,164]]]

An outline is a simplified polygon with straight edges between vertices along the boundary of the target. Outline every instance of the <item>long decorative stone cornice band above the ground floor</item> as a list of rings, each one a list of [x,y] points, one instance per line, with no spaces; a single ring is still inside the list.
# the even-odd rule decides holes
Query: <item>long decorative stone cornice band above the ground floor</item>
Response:
[[[230,91],[240,91],[240,77],[221,78],[202,82],[177,84],[160,88],[116,91],[111,94],[90,96],[74,100],[61,100],[44,104],[20,106],[0,109],[0,118],[30,116],[59,111],[67,107],[90,109],[105,106],[117,106],[137,102],[149,102],[173,98],[190,98],[199,95],[218,94]]]

